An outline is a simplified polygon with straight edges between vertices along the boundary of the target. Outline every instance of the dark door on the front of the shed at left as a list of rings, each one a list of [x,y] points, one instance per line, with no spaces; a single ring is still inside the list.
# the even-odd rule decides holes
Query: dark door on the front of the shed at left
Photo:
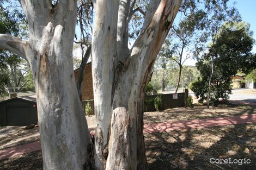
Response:
[[[7,107],[7,125],[31,124],[30,107]]]

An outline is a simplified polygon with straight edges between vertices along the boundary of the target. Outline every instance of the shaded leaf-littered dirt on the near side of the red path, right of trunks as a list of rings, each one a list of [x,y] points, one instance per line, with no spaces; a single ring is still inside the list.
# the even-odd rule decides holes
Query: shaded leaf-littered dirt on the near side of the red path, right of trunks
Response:
[[[149,169],[255,169],[256,123],[145,135]],[[210,159],[250,159],[212,164]]]

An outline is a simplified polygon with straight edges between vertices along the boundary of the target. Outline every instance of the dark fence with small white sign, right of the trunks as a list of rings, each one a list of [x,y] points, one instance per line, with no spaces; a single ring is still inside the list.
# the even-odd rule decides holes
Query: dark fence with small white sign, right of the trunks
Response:
[[[156,111],[154,99],[157,96],[158,95],[151,95],[145,97],[144,111]],[[182,93],[161,94],[161,98],[162,110],[185,107],[187,106],[188,89],[185,89],[185,92]]]

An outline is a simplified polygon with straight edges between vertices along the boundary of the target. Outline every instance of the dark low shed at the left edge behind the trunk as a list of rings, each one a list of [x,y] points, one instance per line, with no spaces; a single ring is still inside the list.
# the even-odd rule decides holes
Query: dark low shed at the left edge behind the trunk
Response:
[[[0,125],[23,126],[37,122],[35,96],[15,97],[0,102]]]

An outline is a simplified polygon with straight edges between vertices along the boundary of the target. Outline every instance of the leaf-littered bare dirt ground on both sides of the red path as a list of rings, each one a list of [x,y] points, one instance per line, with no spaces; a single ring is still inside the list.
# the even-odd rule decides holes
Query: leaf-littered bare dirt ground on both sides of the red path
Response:
[[[162,112],[145,112],[144,123],[168,122],[209,117],[256,113],[254,106],[220,105],[206,109],[177,108]],[[89,129],[95,127],[94,116],[87,116]],[[0,149],[39,140],[38,128],[0,128]],[[256,166],[256,124],[237,124],[205,129],[175,130],[170,133],[145,134],[149,169],[254,169]],[[1,169],[42,169],[41,150],[20,157],[0,160]],[[211,158],[251,159],[248,165],[211,164]]]

